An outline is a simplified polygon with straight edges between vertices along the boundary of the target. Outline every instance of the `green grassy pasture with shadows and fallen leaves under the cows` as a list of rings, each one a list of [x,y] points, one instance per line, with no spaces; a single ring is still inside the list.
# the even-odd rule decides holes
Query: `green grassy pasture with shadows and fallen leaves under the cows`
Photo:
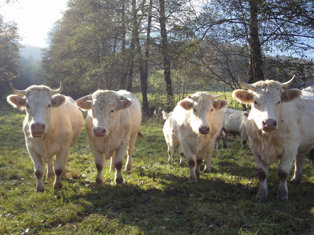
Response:
[[[132,170],[114,186],[95,185],[96,168],[83,128],[70,149],[68,178],[53,190],[35,192],[33,163],[25,147],[24,112],[0,106],[0,234],[314,234],[314,172],[308,158],[300,184],[288,183],[289,201],[276,198],[277,164],[270,167],[268,199],[255,198],[258,179],[249,149],[228,137],[228,148],[215,150],[210,173],[189,185],[189,169],[168,165],[163,120],[143,119]],[[86,113],[84,113],[86,117]],[[204,164],[201,166],[201,170]],[[294,165],[289,180],[293,176]]]

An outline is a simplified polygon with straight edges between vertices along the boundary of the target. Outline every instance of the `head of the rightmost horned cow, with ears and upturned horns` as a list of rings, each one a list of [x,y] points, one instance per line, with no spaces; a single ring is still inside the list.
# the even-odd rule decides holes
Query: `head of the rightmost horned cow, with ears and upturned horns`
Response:
[[[290,81],[280,83],[278,81],[266,80],[258,81],[253,84],[247,84],[240,80],[241,85],[247,88],[245,90],[234,90],[232,97],[244,104],[252,105],[248,119],[253,119],[257,127],[263,133],[278,129],[278,118],[282,102],[290,102],[300,97],[299,89],[283,89],[289,86],[295,76]]]

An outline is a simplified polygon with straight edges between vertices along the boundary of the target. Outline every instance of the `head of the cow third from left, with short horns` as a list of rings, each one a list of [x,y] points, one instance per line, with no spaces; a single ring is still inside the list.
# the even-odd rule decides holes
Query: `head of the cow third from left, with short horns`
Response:
[[[208,92],[196,92],[178,103],[190,112],[189,121],[195,133],[206,135],[214,129],[211,126],[214,115],[229,105],[227,100],[215,100],[221,96],[223,94],[214,96]]]

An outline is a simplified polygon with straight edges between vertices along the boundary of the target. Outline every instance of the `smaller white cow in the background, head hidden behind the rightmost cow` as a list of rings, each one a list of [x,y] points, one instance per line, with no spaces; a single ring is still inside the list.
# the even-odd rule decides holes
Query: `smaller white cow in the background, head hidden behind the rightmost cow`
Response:
[[[225,120],[222,126],[223,147],[227,148],[227,137],[231,134],[233,138],[237,135],[241,137],[242,149],[245,149],[247,142],[247,134],[245,123],[247,120],[248,112],[235,110],[232,108],[224,109]],[[217,149],[220,149],[220,136],[217,138]]]

